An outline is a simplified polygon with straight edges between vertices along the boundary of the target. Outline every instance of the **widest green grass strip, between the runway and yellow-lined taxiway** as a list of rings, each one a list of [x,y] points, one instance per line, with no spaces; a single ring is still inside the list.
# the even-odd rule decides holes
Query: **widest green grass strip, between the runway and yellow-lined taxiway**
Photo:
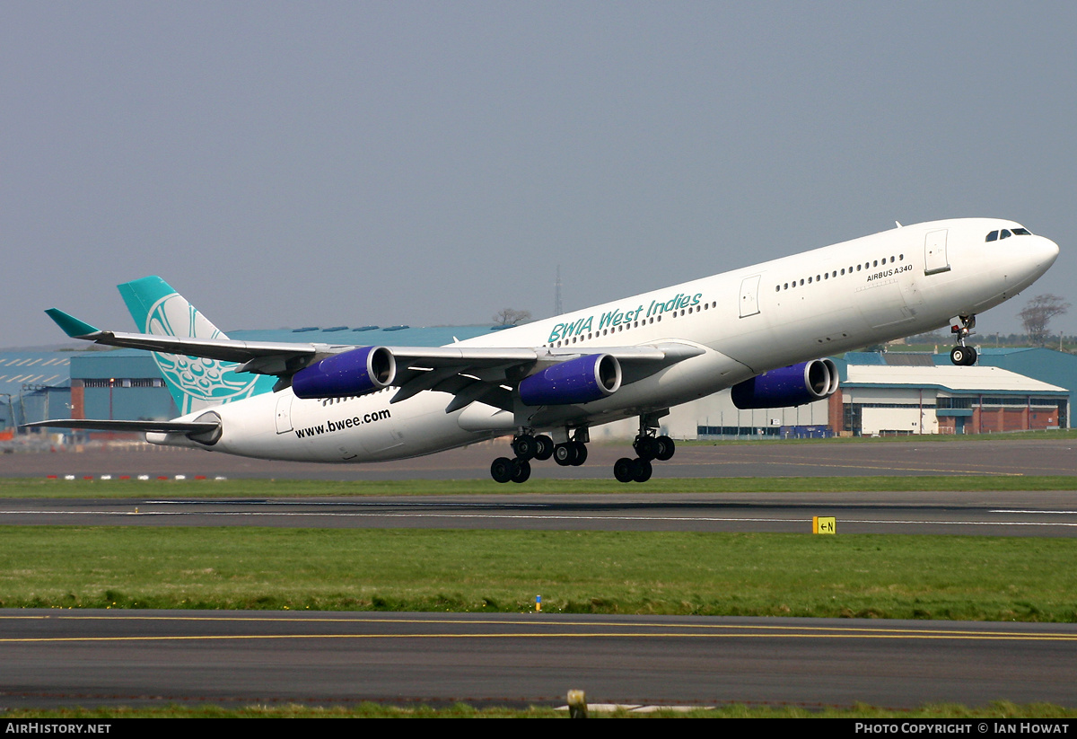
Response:
[[[1077,621],[1077,540],[2,527],[0,606]]]

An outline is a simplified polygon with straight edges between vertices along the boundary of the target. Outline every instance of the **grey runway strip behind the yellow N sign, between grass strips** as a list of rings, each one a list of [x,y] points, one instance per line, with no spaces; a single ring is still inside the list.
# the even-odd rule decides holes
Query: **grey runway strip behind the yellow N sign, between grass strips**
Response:
[[[252,493],[256,493],[256,485],[252,483]],[[1077,536],[1077,493],[641,492],[320,500],[0,500],[0,525],[807,533],[813,516],[834,516],[839,533],[1072,538]]]

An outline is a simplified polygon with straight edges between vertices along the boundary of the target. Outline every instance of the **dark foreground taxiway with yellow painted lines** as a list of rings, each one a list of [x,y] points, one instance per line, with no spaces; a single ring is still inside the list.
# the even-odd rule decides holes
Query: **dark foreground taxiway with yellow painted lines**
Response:
[[[549,614],[0,611],[19,706],[1075,702],[1077,626]]]

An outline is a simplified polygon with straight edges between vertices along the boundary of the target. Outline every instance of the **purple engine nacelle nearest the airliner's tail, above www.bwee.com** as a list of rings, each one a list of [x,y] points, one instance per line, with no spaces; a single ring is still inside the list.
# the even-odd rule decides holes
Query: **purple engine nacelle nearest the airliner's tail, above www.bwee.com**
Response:
[[[292,376],[296,398],[365,395],[392,385],[396,359],[386,347],[362,347],[323,359]]]

